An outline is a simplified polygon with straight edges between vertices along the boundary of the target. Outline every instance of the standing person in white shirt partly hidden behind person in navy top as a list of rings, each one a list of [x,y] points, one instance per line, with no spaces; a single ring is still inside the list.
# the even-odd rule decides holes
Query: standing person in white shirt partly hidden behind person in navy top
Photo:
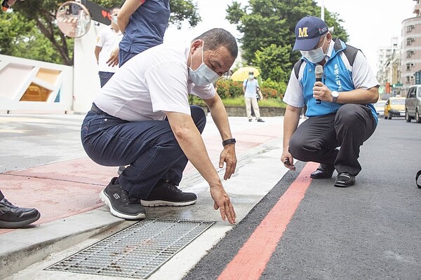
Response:
[[[100,31],[97,37],[97,43],[95,45],[95,57],[98,63],[98,74],[100,75],[101,87],[103,87],[108,80],[114,75],[118,66],[108,66],[107,60],[111,55],[112,50],[119,45],[123,34],[117,25],[117,14],[119,8],[111,9],[111,25],[105,27]]]

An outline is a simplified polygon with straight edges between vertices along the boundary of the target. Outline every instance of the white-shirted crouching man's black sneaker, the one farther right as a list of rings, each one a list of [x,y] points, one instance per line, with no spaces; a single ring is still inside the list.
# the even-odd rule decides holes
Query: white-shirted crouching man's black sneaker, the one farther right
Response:
[[[146,200],[140,200],[143,206],[186,206],[195,204],[197,196],[194,193],[183,193],[173,183],[161,181],[156,184]]]

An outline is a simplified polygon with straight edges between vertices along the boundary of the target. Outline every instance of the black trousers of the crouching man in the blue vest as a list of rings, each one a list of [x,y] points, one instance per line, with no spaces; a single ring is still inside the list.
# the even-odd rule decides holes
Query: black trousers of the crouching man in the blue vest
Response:
[[[338,173],[356,176],[360,147],[376,126],[368,106],[345,104],[336,113],[305,120],[291,137],[289,150],[297,160],[334,165]]]

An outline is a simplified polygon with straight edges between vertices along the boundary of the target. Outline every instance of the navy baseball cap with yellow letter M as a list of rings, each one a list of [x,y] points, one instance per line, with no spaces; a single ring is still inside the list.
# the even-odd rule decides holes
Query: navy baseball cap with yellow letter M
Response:
[[[328,33],[328,26],[320,18],[307,15],[295,25],[295,44],[293,50],[312,50],[320,37]]]

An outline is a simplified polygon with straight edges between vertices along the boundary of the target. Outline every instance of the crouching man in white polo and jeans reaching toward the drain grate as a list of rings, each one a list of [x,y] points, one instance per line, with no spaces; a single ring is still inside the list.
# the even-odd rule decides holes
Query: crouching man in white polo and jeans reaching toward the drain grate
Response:
[[[227,72],[238,53],[224,29],[210,29],[189,48],[157,45],[130,59],[102,87],[81,127],[83,148],[100,165],[129,165],[100,197],[114,216],[145,218],[145,208],[194,204],[194,193],[177,188],[190,160],[209,183],[210,195],[225,221],[235,211],[210,162],[201,132],[206,115],[190,106],[188,94],[201,97],[222,138],[224,179],[236,168],[235,139],[227,112],[212,83]]]

